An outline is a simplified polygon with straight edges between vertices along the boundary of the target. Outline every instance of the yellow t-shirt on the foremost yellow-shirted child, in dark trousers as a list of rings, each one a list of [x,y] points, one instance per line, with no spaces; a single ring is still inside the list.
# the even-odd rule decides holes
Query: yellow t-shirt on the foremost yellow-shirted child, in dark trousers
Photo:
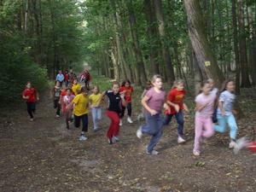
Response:
[[[81,116],[89,112],[88,104],[89,98],[88,96],[84,96],[82,93],[75,96],[73,99],[73,103],[75,104],[73,108],[73,113],[76,116]]]

